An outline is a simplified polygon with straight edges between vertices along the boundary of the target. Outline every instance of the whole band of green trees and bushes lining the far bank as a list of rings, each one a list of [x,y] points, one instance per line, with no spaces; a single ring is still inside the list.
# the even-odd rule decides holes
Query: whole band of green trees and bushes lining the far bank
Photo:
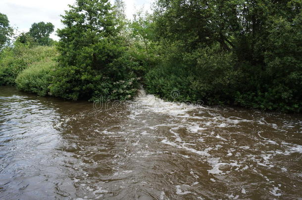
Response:
[[[10,45],[0,15],[0,84],[90,101],[131,99],[143,84],[167,100],[299,113],[301,5],[157,0],[153,14],[130,21],[122,0],[76,0],[58,42],[49,39],[50,24],[38,23]]]

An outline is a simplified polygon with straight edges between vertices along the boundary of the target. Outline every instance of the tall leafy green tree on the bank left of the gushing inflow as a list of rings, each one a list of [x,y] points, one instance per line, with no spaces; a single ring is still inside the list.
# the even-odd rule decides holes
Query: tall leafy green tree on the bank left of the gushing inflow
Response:
[[[117,22],[108,0],[76,0],[70,5],[62,16],[65,28],[57,31],[60,56],[52,95],[74,100],[132,97],[135,90],[127,89],[133,86],[132,63],[124,54]]]

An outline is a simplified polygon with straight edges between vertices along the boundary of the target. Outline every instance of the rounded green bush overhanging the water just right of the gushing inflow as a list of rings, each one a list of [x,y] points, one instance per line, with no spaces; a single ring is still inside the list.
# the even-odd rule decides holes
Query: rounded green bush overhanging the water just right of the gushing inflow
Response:
[[[170,55],[145,79],[148,92],[168,100],[222,104],[233,101],[239,76],[232,53],[223,52],[219,45],[214,45]],[[171,95],[175,90],[179,92],[177,97]]]

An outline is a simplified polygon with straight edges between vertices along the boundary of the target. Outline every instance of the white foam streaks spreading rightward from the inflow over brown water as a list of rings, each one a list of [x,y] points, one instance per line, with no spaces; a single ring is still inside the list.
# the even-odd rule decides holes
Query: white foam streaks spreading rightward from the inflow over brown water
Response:
[[[150,125],[148,124],[148,122],[150,121],[149,118],[147,120],[142,120],[143,123],[146,124],[146,126],[143,125],[141,132],[138,132],[138,134],[149,135],[149,131],[153,134],[154,131],[160,129],[160,132],[162,131],[163,134],[168,134],[169,136],[159,135],[163,136],[159,137],[155,136],[154,134],[153,137],[162,138],[161,140],[159,140],[162,144],[175,147],[171,148],[170,153],[172,155],[179,155],[187,159],[190,158],[190,153],[193,153],[205,157],[202,161],[207,161],[211,166],[211,168],[207,170],[208,174],[224,175],[231,172],[233,174],[233,172],[238,173],[239,171],[242,172],[247,169],[258,169],[262,168],[263,166],[272,168],[274,167],[274,156],[278,154],[289,155],[295,152],[302,153],[301,145],[286,143],[284,140],[279,139],[279,132],[277,131],[275,135],[265,134],[268,138],[262,137],[260,135],[261,132],[267,131],[267,133],[271,133],[272,128],[280,130],[281,127],[279,127],[275,123],[268,123],[264,120],[264,118],[260,120],[259,118],[257,118],[257,116],[252,116],[252,120],[249,116],[247,117],[249,120],[239,117],[225,118],[223,117],[224,114],[221,113],[219,109],[217,110],[217,112],[212,112],[212,110],[214,109],[182,103],[166,102],[162,99],[156,98],[154,95],[147,95],[144,90],[141,90],[140,93],[141,94],[133,103],[134,109],[132,109],[132,118],[140,120],[141,118],[146,116],[146,114],[148,114],[148,117],[150,116],[150,113],[159,114],[156,115],[156,118],[152,118],[151,116],[150,119],[154,121],[159,119],[158,121],[160,122],[154,124],[154,121],[152,121]],[[137,108],[135,109],[136,106]],[[160,118],[162,114],[165,115],[164,118]],[[138,116],[139,118],[137,118]],[[234,132],[225,134],[229,131],[229,127],[240,128],[241,126],[252,127],[253,125],[256,126],[256,128],[261,128],[258,129],[261,130],[258,132],[259,137],[256,135],[257,132],[255,132],[254,134],[254,132],[252,131],[244,132],[241,129],[239,129],[238,132],[235,132],[237,130],[234,129]],[[287,127],[289,127],[289,125]],[[146,128],[149,128],[149,130]],[[148,130],[148,132],[146,130]],[[168,133],[167,130],[169,130]],[[217,134],[218,131],[220,131],[219,134]],[[187,135],[184,133],[187,133]],[[248,137],[247,141],[249,143],[241,143],[242,146],[239,145],[240,141],[235,138],[238,134],[244,134],[245,137]],[[233,135],[235,135],[235,137]],[[134,145],[138,145],[138,142],[139,141],[137,141],[137,143],[134,143]],[[226,146],[228,147],[228,149],[225,149]],[[178,151],[175,150],[176,148],[187,151],[189,156],[178,154]],[[211,154],[208,153],[209,151]],[[216,152],[219,156],[217,156]],[[215,156],[215,154],[216,157],[221,158],[210,158],[211,155]],[[193,155],[191,157],[192,159],[196,158],[196,156]],[[230,160],[233,158],[236,158],[236,160]],[[247,163],[247,160],[252,160],[255,164]],[[280,166],[280,169],[282,171],[287,170],[285,167],[281,167],[282,166]],[[191,172],[190,173],[192,174],[192,177],[198,177],[196,174],[194,174],[193,171]],[[270,178],[271,180],[269,180],[267,177],[264,179],[270,183],[274,181],[274,179]],[[210,181],[216,182],[217,180],[211,178]],[[192,182],[189,182],[188,184],[190,184],[191,186],[199,184],[198,182]],[[188,190],[188,188],[183,187],[182,185],[176,186],[176,194],[178,195],[193,193],[193,191],[190,192],[190,190]],[[269,192],[275,197],[279,197],[281,196],[280,192],[278,192],[279,190],[279,188],[274,187],[274,189]],[[242,188],[241,191],[239,190],[239,193],[240,192],[241,194],[247,194],[247,191],[244,188]],[[236,194],[228,194],[227,197],[232,199],[239,198],[239,196]],[[160,194],[160,199],[163,198],[164,192]]]

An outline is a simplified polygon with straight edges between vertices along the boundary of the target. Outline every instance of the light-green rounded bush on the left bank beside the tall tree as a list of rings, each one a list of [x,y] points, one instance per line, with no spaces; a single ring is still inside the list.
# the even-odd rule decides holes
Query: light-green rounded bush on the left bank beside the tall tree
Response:
[[[46,96],[52,81],[52,72],[57,63],[50,58],[33,63],[23,70],[15,80],[18,89]]]

